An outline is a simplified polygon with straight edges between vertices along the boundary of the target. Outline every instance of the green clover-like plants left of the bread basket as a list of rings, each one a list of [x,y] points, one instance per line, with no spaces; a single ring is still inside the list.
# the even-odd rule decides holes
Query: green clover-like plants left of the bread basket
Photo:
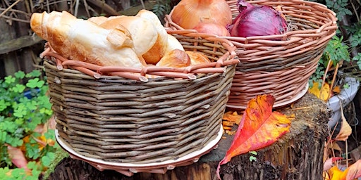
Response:
[[[36,130],[53,113],[46,94],[48,86],[41,75],[39,70],[27,74],[18,71],[0,80],[0,177],[37,179],[59,148],[49,145],[49,141],[55,143],[54,129]],[[23,151],[31,175],[14,165],[10,147]]]

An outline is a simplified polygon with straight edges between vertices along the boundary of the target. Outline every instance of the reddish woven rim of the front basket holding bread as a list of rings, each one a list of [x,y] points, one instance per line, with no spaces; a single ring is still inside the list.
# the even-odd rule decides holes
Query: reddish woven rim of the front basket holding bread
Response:
[[[148,82],[149,77],[169,77],[169,78],[182,78],[182,79],[196,79],[197,73],[223,73],[226,72],[228,66],[237,65],[240,63],[235,53],[236,47],[227,39],[216,37],[213,34],[201,34],[193,30],[169,30],[165,27],[168,34],[178,34],[195,39],[204,39],[207,41],[219,42],[221,46],[226,49],[218,60],[212,63],[202,63],[198,65],[190,65],[185,68],[172,68],[172,67],[159,67],[154,65],[145,66],[143,68],[129,68],[124,66],[99,66],[92,63],[86,63],[80,60],[69,60],[56,53],[51,48],[49,43],[45,44],[45,50],[40,54],[40,58],[47,58],[56,63],[58,70],[63,70],[71,66],[73,69],[78,70],[95,79],[101,78],[106,73],[111,73],[111,76],[123,77],[126,79],[139,80],[141,82]],[[195,45],[198,43],[195,42]],[[148,77],[147,77],[148,76]]]

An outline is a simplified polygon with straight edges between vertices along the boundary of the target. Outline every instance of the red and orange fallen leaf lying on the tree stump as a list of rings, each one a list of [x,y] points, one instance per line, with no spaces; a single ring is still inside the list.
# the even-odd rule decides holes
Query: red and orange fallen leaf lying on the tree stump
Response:
[[[274,101],[274,96],[265,94],[248,102],[231,147],[217,167],[219,179],[221,165],[229,162],[235,155],[269,146],[289,131],[290,118],[279,112],[272,112]]]

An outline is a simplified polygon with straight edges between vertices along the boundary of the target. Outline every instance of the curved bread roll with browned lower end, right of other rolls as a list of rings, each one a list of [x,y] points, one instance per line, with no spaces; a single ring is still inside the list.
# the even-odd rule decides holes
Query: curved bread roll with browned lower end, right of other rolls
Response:
[[[149,51],[147,51],[145,54],[142,55],[148,64],[155,65],[166,53],[166,49],[168,46],[168,33],[166,32],[164,26],[161,25],[161,21],[159,20],[158,16],[154,14],[152,11],[142,9],[135,16],[150,20],[150,22],[152,22],[152,24],[157,30],[158,33],[157,41],[152,46],[152,48],[149,49]]]

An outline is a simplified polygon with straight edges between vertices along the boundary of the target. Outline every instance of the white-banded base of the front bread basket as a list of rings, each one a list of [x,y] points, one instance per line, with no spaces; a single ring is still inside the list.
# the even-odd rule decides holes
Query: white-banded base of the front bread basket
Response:
[[[210,141],[207,145],[204,146],[204,148],[200,150],[197,150],[181,158],[178,158],[177,160],[166,160],[164,162],[157,162],[157,163],[153,162],[147,164],[133,164],[129,162],[106,162],[104,160],[88,158],[85,157],[84,155],[80,155],[79,153],[76,153],[75,150],[73,150],[71,146],[69,146],[68,143],[66,143],[66,141],[64,141],[61,138],[61,136],[59,136],[59,132],[57,129],[55,130],[55,136],[56,136],[56,141],[59,143],[61,148],[66,150],[71,156],[71,158],[75,160],[85,161],[100,171],[103,171],[105,169],[110,169],[110,170],[115,170],[116,172],[119,172],[126,176],[133,176],[133,174],[137,172],[165,174],[168,169],[174,169],[175,167],[191,165],[193,162],[197,162],[202,155],[205,155],[209,153],[211,150],[217,148],[217,145],[221,140],[221,137],[223,136],[223,127],[221,126],[221,128],[219,129],[216,139]]]

